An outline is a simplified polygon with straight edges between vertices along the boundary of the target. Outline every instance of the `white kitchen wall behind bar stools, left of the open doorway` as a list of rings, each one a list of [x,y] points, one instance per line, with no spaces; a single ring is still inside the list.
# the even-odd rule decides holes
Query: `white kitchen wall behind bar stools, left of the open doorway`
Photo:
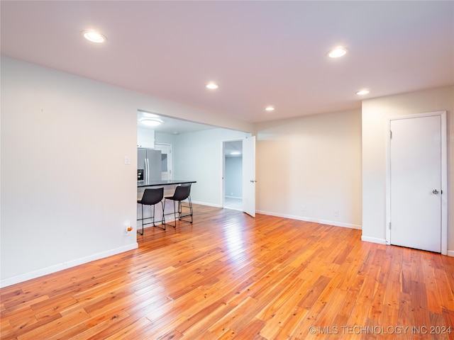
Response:
[[[175,135],[173,179],[194,179],[193,203],[222,205],[222,141],[250,136],[250,133],[216,128]]]

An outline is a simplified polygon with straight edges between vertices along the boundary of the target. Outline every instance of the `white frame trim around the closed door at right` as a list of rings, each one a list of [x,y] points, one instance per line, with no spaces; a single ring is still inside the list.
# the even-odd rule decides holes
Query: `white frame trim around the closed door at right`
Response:
[[[386,122],[386,244],[391,244],[391,122],[411,118],[441,117],[441,254],[448,254],[448,152],[446,111],[388,117]]]

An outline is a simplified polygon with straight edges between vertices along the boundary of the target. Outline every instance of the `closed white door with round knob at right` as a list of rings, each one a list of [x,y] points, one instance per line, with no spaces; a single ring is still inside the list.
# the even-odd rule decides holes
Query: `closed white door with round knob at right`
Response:
[[[441,252],[441,116],[389,125],[390,243]]]

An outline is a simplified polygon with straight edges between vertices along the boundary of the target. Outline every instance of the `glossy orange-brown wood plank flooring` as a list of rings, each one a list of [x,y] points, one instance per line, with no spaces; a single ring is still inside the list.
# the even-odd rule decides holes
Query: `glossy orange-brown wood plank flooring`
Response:
[[[454,258],[194,206],[138,249],[0,290],[1,339],[454,339]]]

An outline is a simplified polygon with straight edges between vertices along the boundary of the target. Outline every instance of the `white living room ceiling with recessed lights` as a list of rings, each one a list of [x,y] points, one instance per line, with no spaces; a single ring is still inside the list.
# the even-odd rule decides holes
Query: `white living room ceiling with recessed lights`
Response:
[[[2,0],[1,54],[255,123],[454,84],[454,1]]]

